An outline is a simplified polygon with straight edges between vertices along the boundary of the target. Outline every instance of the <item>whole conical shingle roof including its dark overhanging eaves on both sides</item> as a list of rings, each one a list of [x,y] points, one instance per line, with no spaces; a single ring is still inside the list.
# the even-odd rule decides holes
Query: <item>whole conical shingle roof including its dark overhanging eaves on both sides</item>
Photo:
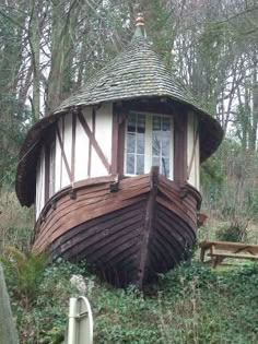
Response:
[[[142,23],[140,23],[142,25]],[[142,34],[141,34],[142,33]],[[200,157],[204,161],[220,145],[223,130],[220,123],[203,110],[183,86],[138,27],[126,49],[89,80],[74,95],[28,131],[20,152],[16,193],[22,205],[31,205],[35,198],[36,162],[48,128],[63,114],[81,106],[114,103],[137,98],[168,98],[185,104],[200,118]]]

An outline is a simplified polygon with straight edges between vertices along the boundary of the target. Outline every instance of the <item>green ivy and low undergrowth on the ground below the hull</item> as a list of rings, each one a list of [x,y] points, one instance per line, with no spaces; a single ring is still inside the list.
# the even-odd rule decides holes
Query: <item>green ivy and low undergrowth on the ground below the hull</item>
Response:
[[[44,270],[31,308],[13,293],[12,309],[22,344],[61,343],[69,297],[80,294],[70,278],[83,275],[94,313],[94,344],[256,344],[258,265],[211,270],[184,263],[160,276],[151,295],[133,286],[116,289],[87,273],[85,264],[59,262]]]

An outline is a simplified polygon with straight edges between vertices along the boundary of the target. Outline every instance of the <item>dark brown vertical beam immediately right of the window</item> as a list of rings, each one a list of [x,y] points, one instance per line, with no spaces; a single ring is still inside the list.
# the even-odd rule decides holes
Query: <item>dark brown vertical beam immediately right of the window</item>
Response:
[[[174,180],[184,182],[187,179],[187,116],[178,112],[174,119]]]

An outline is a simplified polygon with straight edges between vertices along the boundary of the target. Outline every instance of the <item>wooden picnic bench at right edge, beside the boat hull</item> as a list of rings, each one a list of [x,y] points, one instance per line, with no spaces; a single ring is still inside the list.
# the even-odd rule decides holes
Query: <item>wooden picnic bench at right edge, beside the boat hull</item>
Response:
[[[206,252],[215,268],[225,258],[258,260],[258,245],[231,241],[203,241],[200,244],[200,260],[204,262]]]

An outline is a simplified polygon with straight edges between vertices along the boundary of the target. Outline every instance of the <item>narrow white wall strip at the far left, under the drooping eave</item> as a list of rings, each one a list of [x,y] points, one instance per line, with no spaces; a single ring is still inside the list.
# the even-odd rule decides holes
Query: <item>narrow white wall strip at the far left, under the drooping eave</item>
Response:
[[[36,171],[36,220],[45,205],[45,151],[42,149]]]

